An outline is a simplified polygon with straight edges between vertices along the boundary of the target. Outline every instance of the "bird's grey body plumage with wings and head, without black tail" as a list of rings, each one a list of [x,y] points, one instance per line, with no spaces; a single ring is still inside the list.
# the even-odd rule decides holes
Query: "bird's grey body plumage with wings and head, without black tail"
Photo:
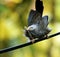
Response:
[[[39,38],[43,37],[44,35],[47,35],[50,32],[50,30],[47,28],[47,25],[48,25],[48,16],[42,17],[40,13],[38,13],[37,11],[31,10],[28,18],[27,29],[34,38]]]

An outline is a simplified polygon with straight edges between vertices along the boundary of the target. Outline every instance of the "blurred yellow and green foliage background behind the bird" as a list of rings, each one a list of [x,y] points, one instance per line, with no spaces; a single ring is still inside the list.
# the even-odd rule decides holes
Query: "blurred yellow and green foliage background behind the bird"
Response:
[[[44,15],[49,16],[50,34],[60,31],[60,0],[43,0]],[[28,42],[24,36],[35,0],[0,0],[0,49]],[[60,36],[28,47],[0,54],[0,57],[60,57]]]

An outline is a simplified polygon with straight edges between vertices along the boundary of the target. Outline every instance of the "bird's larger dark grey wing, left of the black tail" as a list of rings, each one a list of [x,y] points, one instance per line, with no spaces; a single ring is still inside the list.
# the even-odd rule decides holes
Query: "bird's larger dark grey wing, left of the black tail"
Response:
[[[30,26],[34,23],[37,23],[38,16],[40,16],[40,13],[38,13],[37,11],[31,10],[29,17],[28,17],[28,26]]]

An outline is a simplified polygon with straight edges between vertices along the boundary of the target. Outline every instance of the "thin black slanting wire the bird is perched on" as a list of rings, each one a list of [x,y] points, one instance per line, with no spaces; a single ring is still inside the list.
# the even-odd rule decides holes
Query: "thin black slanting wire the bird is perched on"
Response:
[[[42,40],[50,39],[51,37],[54,37],[54,36],[57,36],[57,35],[60,35],[60,32],[52,34],[52,35],[48,36],[48,38],[47,37],[39,38],[38,40],[35,40],[34,43],[37,43],[37,42],[42,41]],[[17,46],[14,46],[14,47],[5,48],[5,49],[0,50],[0,54],[6,53],[6,52],[9,52],[9,51],[13,51],[13,50],[16,50],[18,48],[23,48],[23,47],[26,47],[26,46],[29,46],[29,45],[32,45],[32,42],[17,45]]]

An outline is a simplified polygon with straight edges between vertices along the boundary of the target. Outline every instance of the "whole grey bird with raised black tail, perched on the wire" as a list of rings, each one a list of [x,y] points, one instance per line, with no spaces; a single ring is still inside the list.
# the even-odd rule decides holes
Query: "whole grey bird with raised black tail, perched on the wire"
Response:
[[[43,16],[43,2],[40,0],[36,0],[35,2],[36,10],[31,10],[28,17],[28,27],[26,28],[25,35],[31,40],[31,42],[35,42],[35,39],[47,37],[47,34],[51,31],[47,26],[48,16]]]

